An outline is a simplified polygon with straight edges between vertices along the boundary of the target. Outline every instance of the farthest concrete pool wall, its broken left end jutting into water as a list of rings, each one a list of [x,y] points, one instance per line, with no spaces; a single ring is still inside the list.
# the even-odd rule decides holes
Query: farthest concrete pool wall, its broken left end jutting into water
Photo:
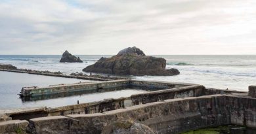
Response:
[[[66,94],[68,92],[98,92],[99,90],[107,90],[109,88],[140,88],[146,90],[163,90],[169,88],[179,88],[190,86],[193,84],[173,83],[173,82],[156,82],[156,81],[137,81],[137,80],[112,80],[110,82],[86,82],[76,84],[61,84],[56,86],[48,86],[45,88],[24,87],[22,88],[22,97],[26,96],[43,96],[53,94]],[[195,84],[194,84],[195,85]]]

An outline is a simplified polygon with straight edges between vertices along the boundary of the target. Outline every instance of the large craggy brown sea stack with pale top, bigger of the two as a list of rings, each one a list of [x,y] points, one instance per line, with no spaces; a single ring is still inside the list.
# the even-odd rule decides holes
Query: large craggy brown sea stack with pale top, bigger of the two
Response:
[[[100,58],[95,64],[85,67],[83,71],[88,73],[106,73],[112,75],[179,75],[177,69],[165,69],[166,60],[146,56],[137,47],[125,48],[111,58]]]

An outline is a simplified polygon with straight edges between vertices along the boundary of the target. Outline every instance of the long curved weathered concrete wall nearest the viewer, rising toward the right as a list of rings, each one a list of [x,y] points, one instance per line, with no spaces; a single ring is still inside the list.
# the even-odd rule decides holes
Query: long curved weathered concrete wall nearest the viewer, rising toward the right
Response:
[[[31,120],[35,124],[33,132],[110,133],[109,128],[114,122],[124,120],[144,124],[156,133],[181,133],[190,129],[228,124],[255,128],[256,99],[236,95],[207,95],[169,99],[103,113],[74,114],[68,116],[72,118],[69,121],[62,117],[54,120],[51,117]]]

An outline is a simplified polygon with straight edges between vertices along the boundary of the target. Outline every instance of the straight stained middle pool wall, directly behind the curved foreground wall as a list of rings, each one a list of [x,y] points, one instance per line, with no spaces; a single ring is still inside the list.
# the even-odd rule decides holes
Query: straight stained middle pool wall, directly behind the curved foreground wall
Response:
[[[193,97],[204,95],[204,87],[200,85],[188,86],[183,88],[173,88],[159,90],[154,92],[139,93],[131,97],[122,97],[119,99],[105,99],[95,103],[83,103],[79,105],[70,105],[48,109],[49,116],[67,115],[67,114],[93,114],[106,112],[110,110],[123,109],[133,105],[163,101],[164,99],[175,99],[181,97]]]

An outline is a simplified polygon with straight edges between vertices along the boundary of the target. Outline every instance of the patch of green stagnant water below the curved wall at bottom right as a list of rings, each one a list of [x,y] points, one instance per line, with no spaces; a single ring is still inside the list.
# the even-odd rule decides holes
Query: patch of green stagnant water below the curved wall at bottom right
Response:
[[[256,129],[242,126],[219,126],[192,130],[181,134],[256,134]]]

